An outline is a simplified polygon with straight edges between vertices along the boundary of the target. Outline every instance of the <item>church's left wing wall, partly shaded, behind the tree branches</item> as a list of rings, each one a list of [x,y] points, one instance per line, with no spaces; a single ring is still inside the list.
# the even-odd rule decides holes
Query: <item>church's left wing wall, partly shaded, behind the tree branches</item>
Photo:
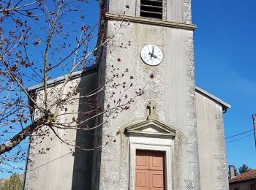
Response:
[[[61,83],[56,87],[54,92],[58,91],[60,86]],[[82,121],[84,117],[78,114],[78,112],[91,110],[91,107],[86,104],[86,100],[83,98],[80,99],[79,97],[97,88],[97,73],[94,72],[71,80],[67,83],[64,94],[68,94],[69,91],[72,91],[74,86],[78,86],[79,89],[83,90],[76,95],[78,101],[74,100],[74,103],[67,104],[67,113],[69,114],[63,114],[61,118],[59,118],[61,122],[70,122],[73,117]],[[42,94],[42,90],[37,90],[38,104],[42,104]],[[53,93],[49,99],[54,101],[54,96],[56,96],[56,93]],[[35,114],[34,119],[37,117],[39,117],[39,115]],[[47,127],[42,127],[42,130],[47,130]],[[89,147],[92,148],[94,136],[91,134],[77,130],[63,129],[56,129],[56,132],[58,132],[63,140],[67,140],[67,142],[73,145],[83,143],[85,146],[89,145]],[[61,143],[51,130],[49,136],[46,135],[44,139],[38,137],[35,133],[32,134],[30,144],[25,189],[82,190],[91,188],[93,151],[73,153],[74,148],[65,145],[63,142]],[[47,153],[39,153],[39,151],[42,151],[42,148],[44,148],[44,150],[50,148],[50,150]]]

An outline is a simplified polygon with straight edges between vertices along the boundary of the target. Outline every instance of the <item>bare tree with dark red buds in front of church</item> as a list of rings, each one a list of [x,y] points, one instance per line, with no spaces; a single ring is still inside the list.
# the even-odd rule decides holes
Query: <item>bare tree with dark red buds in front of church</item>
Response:
[[[0,170],[15,169],[14,162],[26,158],[27,137],[40,138],[41,143],[50,133],[70,147],[89,151],[99,148],[95,145],[77,146],[59,135],[58,130],[80,130],[91,132],[101,127],[118,113],[129,109],[142,89],[132,87],[129,69],[118,69],[118,58],[113,61],[112,75],[100,81],[97,88],[82,94],[83,88],[73,83],[74,75],[82,75],[99,61],[99,53],[110,45],[112,39],[121,34],[121,29],[129,23],[121,20],[116,31],[108,36],[105,31],[105,8],[100,10],[101,21],[98,26],[89,24],[84,10],[88,6],[83,0],[19,0],[0,2]],[[129,8],[129,6],[127,6]],[[124,42],[120,48],[129,47]],[[64,76],[59,81],[51,79]],[[124,77],[125,76],[125,77]],[[124,77],[123,83],[115,83]],[[40,84],[41,91],[31,94],[28,86]],[[97,101],[97,94],[106,86],[116,88],[118,94]],[[68,91],[66,89],[69,89]],[[127,91],[135,91],[128,97]],[[79,96],[78,96],[79,94]],[[70,104],[87,104],[90,110],[69,110]],[[103,107],[109,102],[108,107]],[[63,115],[83,115],[83,120],[73,117],[72,121],[61,121]],[[94,124],[98,116],[106,117]],[[34,118],[33,118],[34,117]],[[33,119],[31,119],[33,118]],[[45,147],[39,153],[47,153]]]

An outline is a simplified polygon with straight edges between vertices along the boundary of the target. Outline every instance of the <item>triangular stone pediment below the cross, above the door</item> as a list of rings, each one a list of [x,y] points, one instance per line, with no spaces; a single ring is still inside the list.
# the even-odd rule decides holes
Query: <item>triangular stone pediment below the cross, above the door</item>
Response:
[[[128,126],[126,131],[129,135],[140,136],[165,136],[175,137],[176,129],[167,126],[165,123],[157,120],[147,120]]]

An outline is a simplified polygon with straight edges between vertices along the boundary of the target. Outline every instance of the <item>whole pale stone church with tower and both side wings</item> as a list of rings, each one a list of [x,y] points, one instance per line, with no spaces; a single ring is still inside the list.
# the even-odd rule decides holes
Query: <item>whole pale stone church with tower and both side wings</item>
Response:
[[[100,4],[106,8],[108,35],[120,22],[129,24],[97,52],[96,68],[74,75],[70,83],[90,91],[110,80],[114,65],[129,69],[129,76],[115,83],[127,77],[133,89],[145,94],[104,122],[94,137],[67,134],[69,140],[94,141],[101,151],[72,156],[56,140],[47,139],[38,146],[50,147],[48,154],[29,150],[25,189],[228,189],[222,114],[230,105],[195,86],[191,1],[102,0]],[[127,42],[128,48],[120,48]],[[42,89],[33,86],[30,91],[38,96]],[[114,103],[105,100],[113,99],[113,92],[116,88],[106,86],[97,94],[99,104],[111,107]],[[126,93],[134,96],[134,91]],[[98,118],[95,125],[104,120]]]

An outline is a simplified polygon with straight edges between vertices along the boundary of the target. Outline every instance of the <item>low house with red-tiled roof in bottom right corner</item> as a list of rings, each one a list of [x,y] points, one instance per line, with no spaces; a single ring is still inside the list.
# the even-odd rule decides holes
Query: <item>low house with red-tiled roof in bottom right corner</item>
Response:
[[[230,190],[256,190],[256,170],[232,176],[229,183]]]

